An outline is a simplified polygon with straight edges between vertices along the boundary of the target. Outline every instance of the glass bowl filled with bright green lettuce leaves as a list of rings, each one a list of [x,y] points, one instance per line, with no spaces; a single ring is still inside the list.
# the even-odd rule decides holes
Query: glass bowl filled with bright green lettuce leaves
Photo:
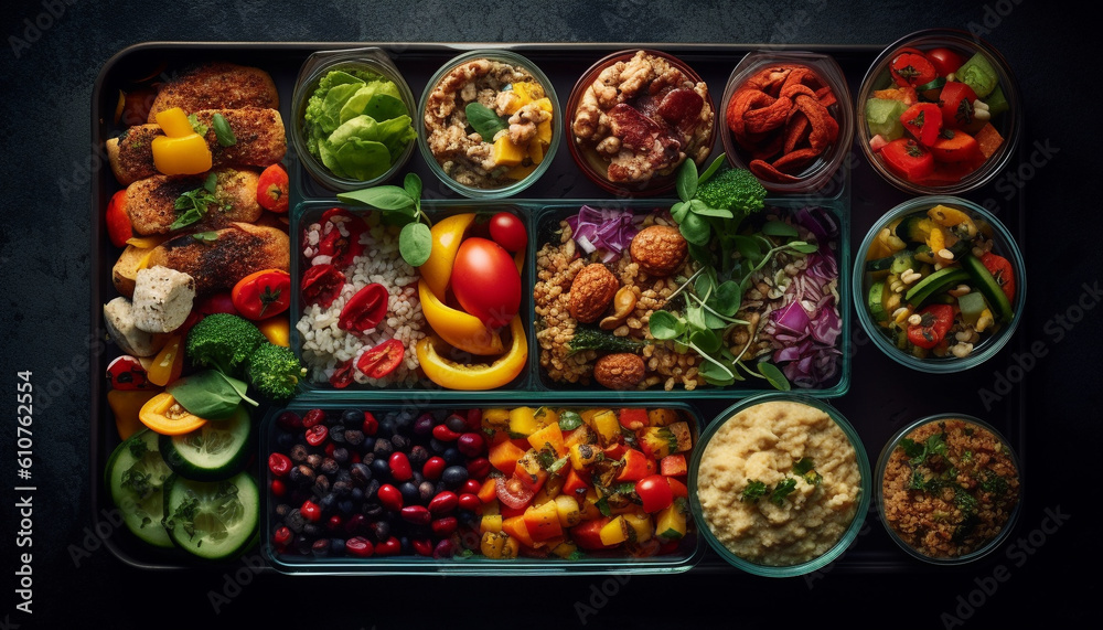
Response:
[[[384,93],[384,96],[392,98],[381,98],[379,100],[375,100],[373,95],[360,108],[350,107],[350,105],[352,105],[351,102],[358,97],[349,98],[345,100],[345,107],[349,108],[350,113],[345,114],[344,111],[341,111],[338,117],[338,120],[341,118],[351,119],[354,117],[353,115],[356,111],[372,110],[373,113],[386,111],[386,114],[378,114],[377,117],[379,120],[376,120],[376,117],[370,116],[372,120],[376,120],[376,122],[381,124],[384,120],[397,121],[401,116],[410,118],[409,131],[400,131],[403,126],[400,122],[396,122],[393,124],[396,126],[394,134],[388,134],[386,138],[374,138],[378,140],[378,143],[373,143],[375,150],[381,152],[386,150],[390,153],[389,167],[385,171],[379,172],[378,168],[357,163],[358,160],[356,160],[350,161],[346,165],[340,168],[347,169],[353,167],[362,169],[362,172],[364,173],[363,178],[355,177],[355,174],[358,173],[334,173],[330,167],[323,163],[323,160],[320,157],[321,151],[319,149],[315,148],[311,151],[311,146],[318,147],[318,142],[310,138],[310,134],[306,128],[307,106],[310,104],[311,97],[314,96],[314,93],[319,87],[319,83],[331,72],[344,72],[349,74],[362,73],[358,76],[361,79],[382,77],[383,79],[394,84],[394,88],[386,88]],[[393,100],[395,94],[397,94],[401,100],[400,105],[405,108],[404,113],[401,111],[401,107]],[[414,138],[410,135],[415,129],[413,115],[417,111],[414,93],[410,92],[409,85],[406,83],[406,79],[403,78],[398,67],[395,66],[394,62],[390,61],[390,57],[387,56],[382,49],[350,49],[341,51],[324,51],[311,54],[307,57],[307,61],[303,62],[302,67],[299,70],[299,75],[296,79],[295,89],[291,96],[291,145],[295,148],[295,153],[302,167],[308,173],[310,173],[311,178],[329,190],[344,192],[381,184],[394,177],[394,174],[409,161],[410,156],[414,154]],[[384,116],[387,116],[387,118],[384,118]],[[347,120],[345,120],[345,122],[347,122]],[[328,122],[326,125],[329,126],[333,124],[334,122]],[[366,129],[361,131],[361,135],[365,134],[372,132]],[[364,138],[367,139],[366,136]],[[394,145],[394,147],[388,147],[388,143]],[[349,145],[345,145],[345,147],[349,147]]]

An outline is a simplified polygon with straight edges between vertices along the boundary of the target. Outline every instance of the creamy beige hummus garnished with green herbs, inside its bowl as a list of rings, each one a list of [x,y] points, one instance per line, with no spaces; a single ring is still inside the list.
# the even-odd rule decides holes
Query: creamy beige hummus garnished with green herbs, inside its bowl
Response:
[[[705,446],[697,496],[716,540],[754,564],[791,566],[843,537],[861,498],[854,446],[825,412],[795,402],[753,405]]]

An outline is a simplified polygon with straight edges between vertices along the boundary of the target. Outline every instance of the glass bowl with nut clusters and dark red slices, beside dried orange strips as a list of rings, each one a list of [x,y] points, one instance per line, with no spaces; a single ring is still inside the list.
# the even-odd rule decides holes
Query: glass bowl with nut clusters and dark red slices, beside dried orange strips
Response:
[[[595,82],[599,81],[601,73],[615,64],[630,64],[638,55],[640,61],[649,60],[670,64],[685,76],[685,81],[679,85],[681,87],[693,88],[698,96],[702,96],[702,92],[705,93],[703,95],[704,98],[699,99],[699,106],[697,106],[698,114],[696,116],[698,120],[693,127],[694,131],[688,140],[689,150],[682,151],[679,148],[678,151],[693,154],[694,161],[698,167],[702,167],[711,152],[713,140],[716,134],[716,107],[713,103],[711,93],[708,92],[700,76],[682,60],[664,52],[647,49],[617,52],[599,60],[582,73],[581,78],[578,79],[578,83],[571,89],[570,98],[567,100],[567,119],[565,120],[565,125],[568,146],[570,147],[570,154],[575,163],[588,179],[610,193],[624,196],[658,195],[673,191],[677,167],[682,163],[682,160],[665,159],[658,164],[657,170],[654,167],[632,167],[631,164],[622,169],[618,164],[613,169],[614,173],[622,172],[623,174],[611,177],[610,159],[602,156],[597,149],[599,147],[609,147],[610,152],[617,152],[618,148],[624,146],[621,141],[622,138],[609,132],[610,129],[607,128],[611,125],[606,119],[610,119],[610,117],[597,102],[590,108],[590,114],[585,114],[582,118],[579,118],[579,108],[588,100],[595,98],[590,87]],[[643,107],[643,104],[641,104],[642,98],[649,97],[625,97],[618,88],[615,96],[610,100],[611,104],[608,109],[611,111],[621,104],[625,106],[631,105],[625,114],[625,116],[630,116],[631,118],[627,118],[627,120],[641,120],[650,130],[651,136],[658,135],[664,127],[670,128],[671,122],[658,114],[658,110],[664,105],[656,105],[653,103],[653,99],[649,104],[649,107],[655,111],[654,116],[660,120],[656,121],[654,118],[640,116],[640,108]],[[696,99],[693,97],[688,97],[687,100],[690,103],[687,103],[686,106],[696,104]],[[667,107],[670,107],[667,111],[671,111],[671,116],[674,116],[674,113],[677,111],[675,109],[676,106],[677,100],[672,98],[667,104]],[[600,110],[600,114],[595,111],[595,108]],[[592,120],[593,118],[597,118],[598,121],[592,125],[585,124],[586,120]],[[618,122],[618,125],[622,124]],[[595,127],[597,129],[591,131]],[[624,128],[628,128],[627,125],[624,125]],[[579,130],[583,130],[585,132],[579,135]],[[685,135],[682,134],[682,136],[684,138]],[[684,140],[679,140],[679,142],[684,142]],[[653,145],[646,149],[650,150],[651,147]]]

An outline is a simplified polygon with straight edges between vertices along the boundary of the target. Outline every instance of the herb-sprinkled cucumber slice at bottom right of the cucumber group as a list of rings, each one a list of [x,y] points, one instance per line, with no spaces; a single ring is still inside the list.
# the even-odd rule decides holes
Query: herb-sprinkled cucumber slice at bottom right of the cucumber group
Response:
[[[164,528],[176,546],[201,558],[239,556],[254,542],[260,491],[248,472],[223,481],[172,474],[164,482]]]

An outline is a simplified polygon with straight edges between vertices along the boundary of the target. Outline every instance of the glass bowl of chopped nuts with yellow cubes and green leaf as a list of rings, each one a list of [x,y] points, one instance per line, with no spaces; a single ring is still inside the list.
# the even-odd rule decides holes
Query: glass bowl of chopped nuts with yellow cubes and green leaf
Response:
[[[429,130],[429,127],[436,127],[440,124],[439,121],[453,116],[451,113],[452,100],[445,96],[435,96],[437,87],[445,81],[459,81],[456,84],[457,92],[462,89],[464,85],[473,88],[475,86],[474,78],[463,76],[452,77],[450,75],[453,71],[460,71],[461,66],[469,70],[474,67],[470,66],[470,64],[479,60],[491,62],[489,71],[481,72],[478,76],[492,77],[488,84],[492,89],[497,90],[499,95],[506,92],[520,95],[518,98],[508,100],[503,100],[503,97],[499,96],[500,105],[494,107],[495,111],[490,111],[491,108],[489,107],[482,108],[492,119],[493,125],[499,127],[506,125],[506,120],[513,117],[510,114],[516,111],[517,108],[523,108],[533,103],[539,109],[550,111],[552,118],[536,126],[536,136],[531,138],[531,140],[526,140],[529,142],[526,147],[518,148],[518,143],[513,142],[508,138],[499,140],[497,142],[494,140],[485,141],[483,139],[483,142],[476,142],[471,146],[460,145],[453,147],[452,143],[449,143],[448,138],[442,135],[447,128],[442,128],[442,132],[439,136]],[[499,70],[502,74],[495,76]],[[523,83],[536,83],[538,88],[514,89],[515,86],[512,84],[512,78],[517,76],[518,70],[527,74],[531,79]],[[445,100],[438,109],[442,108],[445,113],[433,115],[431,114],[431,109],[440,98],[445,98]],[[461,99],[471,104],[474,102],[474,95],[471,95],[471,98],[461,97]],[[506,114],[495,117],[494,114],[503,109],[502,104],[507,104],[504,107]],[[454,119],[451,121],[453,126],[461,124],[464,126],[463,129],[452,134],[452,137],[472,142],[470,140],[472,129],[468,122],[467,107],[464,107],[462,113],[457,113]],[[418,145],[429,169],[448,188],[470,199],[502,199],[527,189],[548,170],[548,167],[555,159],[563,136],[559,125],[561,109],[559,108],[559,99],[556,96],[555,86],[532,61],[517,53],[504,50],[470,51],[448,61],[426,84],[425,93],[421,96],[421,109],[418,113],[417,119]],[[433,145],[438,142],[448,145],[448,153],[441,157],[437,156]],[[539,148],[534,147],[533,142],[538,142]],[[470,149],[475,149],[483,145],[490,151],[488,153],[489,159],[493,160],[496,158],[497,161],[494,162],[495,164],[504,162],[505,165],[495,165],[488,172],[482,164],[468,158]],[[452,156],[460,159],[456,159]]]

